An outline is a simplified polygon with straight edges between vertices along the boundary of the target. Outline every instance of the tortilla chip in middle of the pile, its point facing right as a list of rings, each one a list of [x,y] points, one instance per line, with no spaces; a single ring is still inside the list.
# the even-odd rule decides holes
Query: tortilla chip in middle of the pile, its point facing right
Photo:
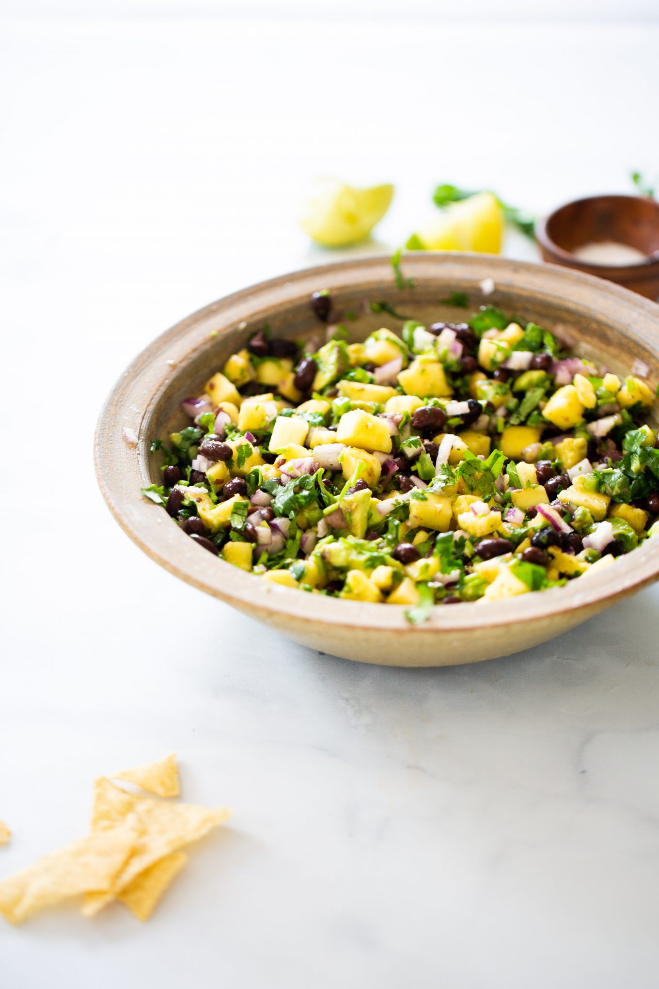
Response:
[[[89,893],[85,897],[82,912],[86,917],[93,917],[116,899],[140,872],[154,862],[199,841],[213,828],[224,824],[231,812],[227,807],[200,807],[137,797],[115,786],[109,779],[97,779],[93,831],[104,833],[108,828],[117,827],[117,822],[126,814],[134,814],[141,835],[112,887],[107,892]]]

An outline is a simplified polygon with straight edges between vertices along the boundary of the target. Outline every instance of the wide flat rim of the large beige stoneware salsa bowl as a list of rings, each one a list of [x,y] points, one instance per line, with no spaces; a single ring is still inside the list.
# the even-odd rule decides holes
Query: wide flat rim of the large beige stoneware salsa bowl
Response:
[[[618,314],[607,315],[607,318],[612,323],[619,323],[624,315],[627,325],[635,325],[637,329],[644,327],[650,337],[654,337],[649,339],[649,345],[654,346],[659,358],[659,305],[612,282],[558,265],[466,252],[407,252],[403,253],[401,263],[406,273],[417,280],[432,281],[442,274],[444,281],[451,279],[452,285],[457,282],[456,287],[461,287],[460,282],[468,282],[474,293],[486,278],[493,278],[495,285],[500,285],[504,291],[521,291],[523,287],[535,286],[536,296],[544,292],[549,299],[581,305],[585,317],[583,311],[588,311],[585,299],[581,304],[575,299],[579,295],[577,290],[581,290],[591,300],[593,312],[600,318],[603,312]],[[187,584],[270,624],[276,624],[278,616],[294,619],[300,635],[305,626],[317,627],[322,623],[356,630],[385,631],[392,635],[404,632],[428,636],[437,632],[474,630],[482,634],[487,627],[547,620],[598,603],[604,606],[613,598],[658,580],[659,553],[649,549],[652,540],[647,540],[632,554],[619,558],[615,566],[587,579],[579,578],[563,587],[504,601],[464,602],[451,608],[437,606],[427,622],[411,625],[405,618],[403,605],[392,607],[384,603],[305,593],[262,581],[219,557],[201,553],[160,506],[140,494],[139,489],[152,482],[148,471],[151,437],[141,428],[148,407],[144,405],[144,386],[155,401],[167,380],[171,382],[171,376],[176,374],[176,366],[202,344],[207,344],[209,333],[216,335],[209,327],[218,319],[223,323],[223,331],[241,329],[243,323],[263,320],[277,307],[282,309],[310,297],[319,286],[331,286],[335,291],[364,292],[365,283],[369,281],[377,282],[381,287],[391,282],[388,256],[361,255],[280,275],[210,303],[175,323],[137,354],[106,399],[94,440],[95,469],[101,493],[126,535],[147,556]],[[406,298],[413,305],[413,295]],[[483,301],[492,302],[492,297]],[[138,437],[136,445],[126,442],[124,429],[132,430]]]

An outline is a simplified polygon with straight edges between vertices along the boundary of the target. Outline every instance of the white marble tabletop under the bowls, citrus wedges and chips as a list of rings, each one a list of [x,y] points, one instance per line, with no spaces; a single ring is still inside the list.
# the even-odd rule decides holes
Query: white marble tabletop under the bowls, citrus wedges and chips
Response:
[[[156,333],[320,256],[290,223],[317,172],[397,182],[389,249],[435,181],[543,210],[656,168],[659,29],[2,29],[0,874],[173,749],[235,811],[145,927],[1,927],[2,989],[655,986],[657,589],[482,666],[351,665],[150,563],[91,444]]]

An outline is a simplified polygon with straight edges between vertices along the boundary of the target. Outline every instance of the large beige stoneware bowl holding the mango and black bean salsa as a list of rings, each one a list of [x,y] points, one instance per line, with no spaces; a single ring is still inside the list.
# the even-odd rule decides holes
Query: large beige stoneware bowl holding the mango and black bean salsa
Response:
[[[161,477],[150,441],[187,421],[180,401],[202,391],[248,335],[268,322],[275,335],[322,332],[309,297],[329,289],[341,309],[365,311],[365,300],[385,301],[422,322],[459,321],[464,311],[441,305],[465,292],[470,308],[487,302],[533,319],[598,358],[618,373],[634,358],[659,378],[659,306],[618,286],[566,268],[486,255],[419,252],[403,257],[413,289],[400,292],[385,257],[364,257],[309,268],[264,282],[212,303],[163,333],[129,366],[101,412],[96,469],[101,490],[124,531],[156,563],[176,577],[227,601],[246,614],[326,653],[363,663],[432,667],[505,656],[566,632],[659,576],[659,541],[648,540],[599,575],[511,600],[438,606],[423,625],[410,626],[404,609],[304,593],[231,567],[195,545],[162,508],[139,492]],[[493,278],[485,299],[479,288]],[[390,315],[366,313],[347,322],[355,339]],[[135,445],[123,430],[138,436]]]

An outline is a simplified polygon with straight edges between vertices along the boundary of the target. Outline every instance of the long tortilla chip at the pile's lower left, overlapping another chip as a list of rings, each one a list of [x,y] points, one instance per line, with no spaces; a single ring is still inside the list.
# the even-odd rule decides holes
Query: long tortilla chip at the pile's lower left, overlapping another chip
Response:
[[[71,842],[0,882],[0,914],[20,924],[42,907],[92,890],[111,889],[139,839],[135,815],[99,834]]]

